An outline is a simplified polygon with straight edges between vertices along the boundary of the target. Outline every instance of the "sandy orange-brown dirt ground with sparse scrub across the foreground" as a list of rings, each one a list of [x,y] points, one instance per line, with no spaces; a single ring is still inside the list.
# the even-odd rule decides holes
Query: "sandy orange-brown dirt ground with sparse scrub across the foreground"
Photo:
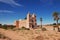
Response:
[[[60,40],[60,32],[41,29],[13,31],[0,28],[0,40]]]

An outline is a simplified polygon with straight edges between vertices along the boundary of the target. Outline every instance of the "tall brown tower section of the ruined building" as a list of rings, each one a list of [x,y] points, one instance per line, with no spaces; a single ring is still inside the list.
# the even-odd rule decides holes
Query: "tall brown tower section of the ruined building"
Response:
[[[35,14],[30,14],[28,12],[27,14],[27,26],[29,26],[30,28],[35,28],[37,26],[37,23],[36,23],[36,15]]]

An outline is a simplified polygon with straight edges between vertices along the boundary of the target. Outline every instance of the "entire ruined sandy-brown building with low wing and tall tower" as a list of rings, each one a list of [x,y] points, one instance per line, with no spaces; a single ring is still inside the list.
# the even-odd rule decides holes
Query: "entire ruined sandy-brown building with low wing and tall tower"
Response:
[[[36,15],[30,14],[28,12],[27,17],[24,20],[17,20],[15,21],[15,25],[17,28],[25,27],[25,28],[36,28]]]

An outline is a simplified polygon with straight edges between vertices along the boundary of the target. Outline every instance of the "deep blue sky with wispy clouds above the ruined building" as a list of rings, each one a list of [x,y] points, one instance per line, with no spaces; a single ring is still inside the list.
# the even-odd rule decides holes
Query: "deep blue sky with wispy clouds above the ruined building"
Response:
[[[40,17],[43,24],[50,24],[54,23],[52,13],[55,11],[60,12],[60,0],[0,0],[0,23],[13,24],[30,12],[36,14],[38,24]]]

